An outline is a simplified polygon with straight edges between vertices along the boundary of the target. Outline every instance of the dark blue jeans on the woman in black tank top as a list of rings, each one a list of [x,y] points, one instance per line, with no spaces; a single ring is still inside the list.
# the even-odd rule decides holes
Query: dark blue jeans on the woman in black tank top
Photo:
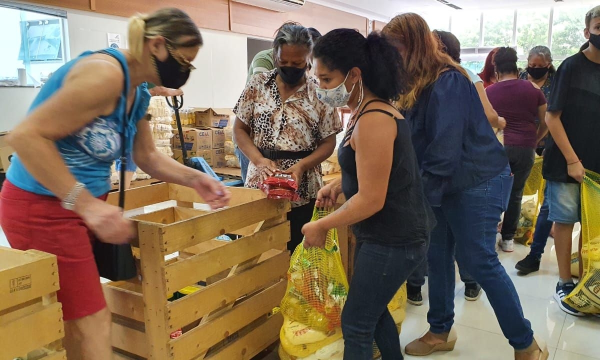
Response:
[[[388,303],[425,260],[427,244],[426,240],[400,247],[356,243],[350,292],[341,314],[344,360],[373,359],[373,339],[383,359],[403,359]]]

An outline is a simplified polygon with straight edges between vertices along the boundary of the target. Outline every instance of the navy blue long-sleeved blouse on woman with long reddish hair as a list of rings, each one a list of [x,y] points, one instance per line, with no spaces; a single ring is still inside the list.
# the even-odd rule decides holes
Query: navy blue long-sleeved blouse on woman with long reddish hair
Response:
[[[440,206],[445,194],[475,187],[508,166],[475,85],[457,70],[440,74],[405,117],[431,206]]]

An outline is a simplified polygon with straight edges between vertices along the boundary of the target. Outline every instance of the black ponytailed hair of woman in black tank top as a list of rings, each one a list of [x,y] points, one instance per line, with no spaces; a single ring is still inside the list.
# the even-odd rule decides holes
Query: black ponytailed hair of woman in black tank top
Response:
[[[347,74],[358,67],[364,86],[377,97],[395,101],[405,91],[407,76],[400,55],[377,32],[365,38],[353,29],[332,30],[319,38],[313,55],[329,70]]]

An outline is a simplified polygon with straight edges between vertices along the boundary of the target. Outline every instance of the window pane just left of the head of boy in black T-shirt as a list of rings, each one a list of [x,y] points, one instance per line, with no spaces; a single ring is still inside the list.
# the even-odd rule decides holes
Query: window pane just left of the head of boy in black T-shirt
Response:
[[[554,58],[574,55],[586,42],[583,29],[586,27],[586,13],[590,8],[590,6],[554,8],[552,25],[552,56]]]

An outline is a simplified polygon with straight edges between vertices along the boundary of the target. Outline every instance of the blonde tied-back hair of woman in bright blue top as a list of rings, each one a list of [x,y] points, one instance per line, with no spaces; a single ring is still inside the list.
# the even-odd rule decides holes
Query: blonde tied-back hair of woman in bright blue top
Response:
[[[173,47],[202,46],[202,35],[194,21],[178,8],[163,8],[152,14],[137,14],[129,19],[129,51],[142,61],[148,38],[164,37]]]

